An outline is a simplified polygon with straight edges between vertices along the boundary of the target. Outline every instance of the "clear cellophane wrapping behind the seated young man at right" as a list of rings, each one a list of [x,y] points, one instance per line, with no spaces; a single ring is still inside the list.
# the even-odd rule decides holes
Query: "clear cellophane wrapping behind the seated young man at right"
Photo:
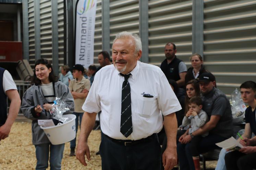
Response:
[[[237,88],[231,93],[230,105],[234,118],[241,116],[246,110],[246,106],[241,98],[241,93]]]

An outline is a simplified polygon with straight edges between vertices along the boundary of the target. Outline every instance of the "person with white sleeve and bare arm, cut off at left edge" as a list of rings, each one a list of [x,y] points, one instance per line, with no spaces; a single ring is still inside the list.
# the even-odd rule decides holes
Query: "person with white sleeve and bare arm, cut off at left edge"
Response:
[[[7,97],[11,101],[7,117]],[[0,67],[0,141],[9,136],[21,105],[20,95],[9,71]]]

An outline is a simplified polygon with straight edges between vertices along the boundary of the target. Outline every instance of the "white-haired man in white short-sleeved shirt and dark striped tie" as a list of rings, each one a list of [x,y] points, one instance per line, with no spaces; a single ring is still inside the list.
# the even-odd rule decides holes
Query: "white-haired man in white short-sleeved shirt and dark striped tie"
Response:
[[[83,165],[87,165],[85,155],[90,160],[87,139],[96,113],[101,110],[102,170],[160,170],[161,148],[156,133],[162,129],[162,115],[167,134],[163,166],[165,170],[175,166],[174,113],[181,106],[161,69],[138,61],[141,55],[141,39],[136,34],[116,35],[112,46],[113,65],[96,73],[82,107],[85,113],[76,157]]]

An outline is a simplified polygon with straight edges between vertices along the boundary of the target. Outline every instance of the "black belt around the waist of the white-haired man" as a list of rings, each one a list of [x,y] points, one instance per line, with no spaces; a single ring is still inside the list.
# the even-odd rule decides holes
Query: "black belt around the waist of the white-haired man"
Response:
[[[105,135],[105,137],[107,137],[111,141],[113,141],[115,143],[122,144],[124,146],[130,146],[130,145],[136,145],[136,144],[140,144],[140,143],[146,143],[146,142],[152,141],[155,137],[157,137],[157,134],[153,133],[151,136],[148,136],[147,138],[142,138],[142,139],[139,139],[139,140],[121,140],[121,139],[110,138],[106,134],[104,134],[104,135]]]

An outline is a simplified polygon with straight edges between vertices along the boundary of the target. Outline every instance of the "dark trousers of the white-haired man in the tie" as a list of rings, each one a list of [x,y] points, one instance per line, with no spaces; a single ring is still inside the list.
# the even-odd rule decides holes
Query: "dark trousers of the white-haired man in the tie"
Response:
[[[160,170],[161,147],[157,135],[147,142],[125,146],[102,136],[100,156],[102,170]]]

